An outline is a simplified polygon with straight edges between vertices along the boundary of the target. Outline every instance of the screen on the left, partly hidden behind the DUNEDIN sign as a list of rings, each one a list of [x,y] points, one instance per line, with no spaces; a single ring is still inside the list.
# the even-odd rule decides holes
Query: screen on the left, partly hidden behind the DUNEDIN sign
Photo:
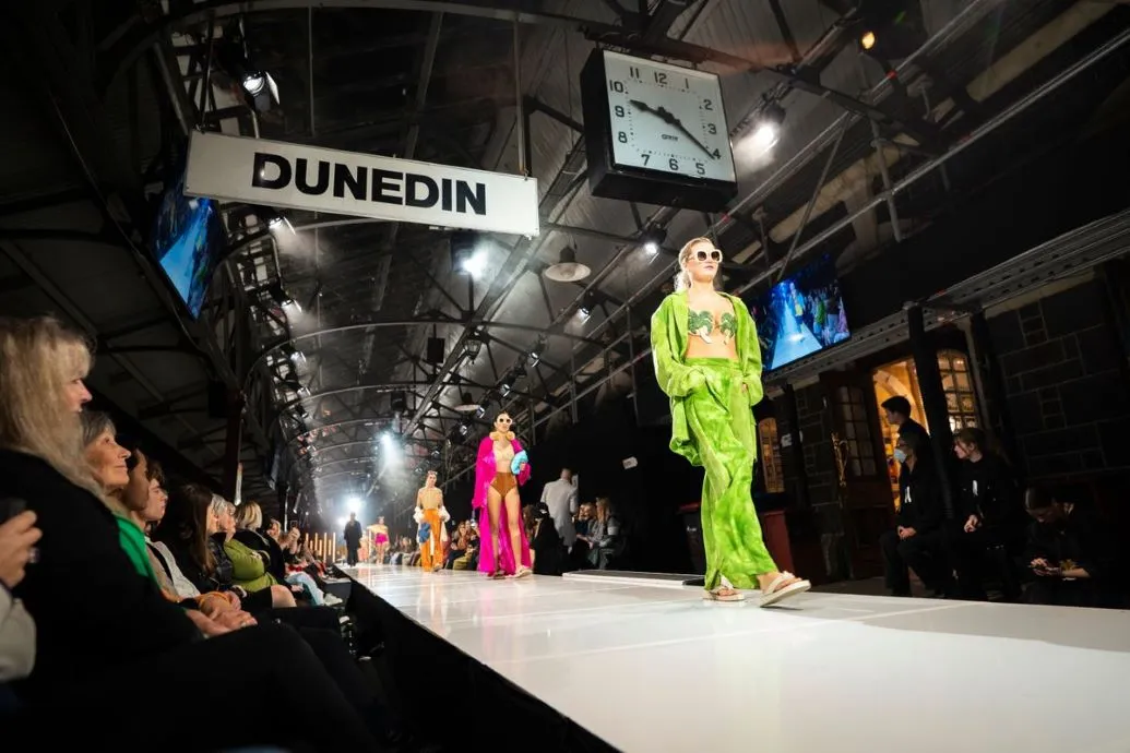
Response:
[[[153,251],[192,318],[200,316],[221,243],[219,202],[185,196],[180,170],[160,199]]]

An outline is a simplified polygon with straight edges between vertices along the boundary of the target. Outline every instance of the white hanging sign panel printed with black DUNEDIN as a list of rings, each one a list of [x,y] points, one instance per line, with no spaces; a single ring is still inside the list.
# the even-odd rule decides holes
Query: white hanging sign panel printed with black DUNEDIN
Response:
[[[536,178],[193,132],[184,193],[221,201],[536,236]]]

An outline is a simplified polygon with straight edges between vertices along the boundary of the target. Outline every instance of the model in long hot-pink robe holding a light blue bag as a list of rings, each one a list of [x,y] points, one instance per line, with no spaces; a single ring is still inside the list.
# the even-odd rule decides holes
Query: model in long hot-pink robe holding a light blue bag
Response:
[[[530,462],[510,430],[511,423],[507,413],[498,414],[495,430],[479,443],[475,464],[471,506],[479,510],[483,542],[479,570],[492,578],[530,575],[530,543],[522,526],[522,500],[518,494],[519,484],[530,480]]]

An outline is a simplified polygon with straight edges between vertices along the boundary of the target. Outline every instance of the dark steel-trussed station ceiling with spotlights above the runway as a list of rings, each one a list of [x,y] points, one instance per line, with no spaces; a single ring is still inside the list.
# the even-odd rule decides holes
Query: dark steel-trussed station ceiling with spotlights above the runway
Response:
[[[1037,151],[1023,134],[1057,103],[1123,81],[1130,26],[1120,3],[1070,0],[19,6],[2,30],[19,73],[0,84],[3,309],[81,326],[99,395],[186,470],[229,485],[242,463],[244,498],[288,510],[402,491],[417,469],[458,478],[499,406],[536,440],[629,389],[692,237],[716,238],[734,291],[897,247]],[[720,75],[739,183],[724,212],[590,194],[579,76],[598,45]],[[277,97],[251,95],[249,71]],[[226,204],[194,322],[146,247],[193,130],[525,173],[542,231]],[[453,242],[481,269],[453,263]],[[591,273],[547,275],[563,251]]]

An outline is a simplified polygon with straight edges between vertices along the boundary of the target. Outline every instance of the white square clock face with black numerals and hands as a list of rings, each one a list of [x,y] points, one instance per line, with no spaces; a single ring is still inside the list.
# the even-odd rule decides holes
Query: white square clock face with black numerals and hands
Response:
[[[716,76],[608,51],[605,72],[616,166],[734,181]]]

